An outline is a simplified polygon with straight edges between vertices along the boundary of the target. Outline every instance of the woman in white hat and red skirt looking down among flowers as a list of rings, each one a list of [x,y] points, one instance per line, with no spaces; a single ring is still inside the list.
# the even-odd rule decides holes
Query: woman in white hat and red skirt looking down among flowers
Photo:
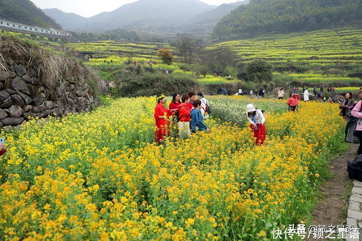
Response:
[[[247,117],[250,122],[250,128],[256,138],[255,145],[263,145],[265,141],[265,117],[260,109],[256,109],[253,104],[247,105]]]

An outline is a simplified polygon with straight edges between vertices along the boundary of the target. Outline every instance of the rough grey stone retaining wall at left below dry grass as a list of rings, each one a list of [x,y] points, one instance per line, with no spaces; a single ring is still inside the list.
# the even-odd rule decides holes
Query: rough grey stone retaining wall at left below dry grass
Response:
[[[0,71],[0,127],[19,125],[29,117],[58,117],[97,107],[98,99],[83,78],[62,77],[51,90],[34,70],[16,64],[9,70]]]

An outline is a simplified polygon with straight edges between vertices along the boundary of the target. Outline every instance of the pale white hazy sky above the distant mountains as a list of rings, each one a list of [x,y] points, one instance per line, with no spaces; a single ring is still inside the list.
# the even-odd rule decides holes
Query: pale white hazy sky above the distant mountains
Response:
[[[123,4],[133,3],[136,0],[31,0],[37,7],[58,8],[66,13],[76,13],[83,17],[92,17],[101,12],[110,12]],[[170,0],[174,1],[174,0]],[[238,0],[201,0],[210,5],[235,3]]]

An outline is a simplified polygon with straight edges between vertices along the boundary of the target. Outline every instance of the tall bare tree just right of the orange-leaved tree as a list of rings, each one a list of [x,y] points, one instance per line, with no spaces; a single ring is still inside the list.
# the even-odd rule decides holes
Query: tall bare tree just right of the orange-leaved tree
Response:
[[[200,43],[189,36],[181,36],[177,43],[179,56],[185,64],[191,64],[195,56],[201,49]]]

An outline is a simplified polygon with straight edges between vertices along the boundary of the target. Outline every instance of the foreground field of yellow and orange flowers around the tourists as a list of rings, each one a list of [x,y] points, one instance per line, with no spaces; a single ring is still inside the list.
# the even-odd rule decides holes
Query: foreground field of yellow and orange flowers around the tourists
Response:
[[[215,119],[157,145],[154,98],[5,133],[1,239],[265,240],[307,216],[325,152],[342,145],[338,106],[323,103],[269,114],[264,146]]]

